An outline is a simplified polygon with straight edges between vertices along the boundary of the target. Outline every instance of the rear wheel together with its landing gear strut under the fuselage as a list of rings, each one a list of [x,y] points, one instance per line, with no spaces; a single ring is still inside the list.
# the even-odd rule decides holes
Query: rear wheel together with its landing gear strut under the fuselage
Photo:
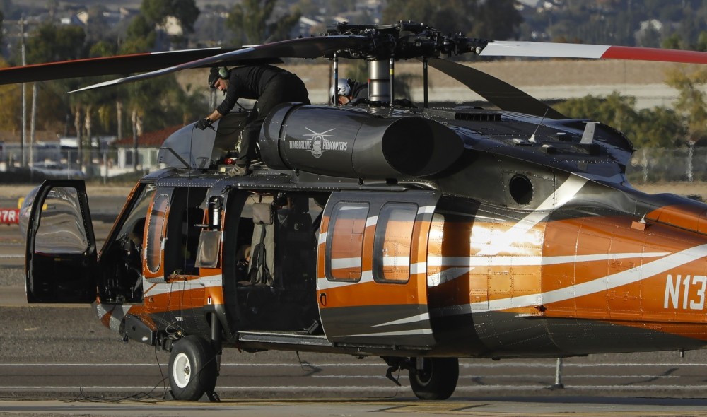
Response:
[[[410,374],[410,387],[419,399],[448,399],[459,380],[457,358],[383,358],[390,368],[387,375],[402,368]]]

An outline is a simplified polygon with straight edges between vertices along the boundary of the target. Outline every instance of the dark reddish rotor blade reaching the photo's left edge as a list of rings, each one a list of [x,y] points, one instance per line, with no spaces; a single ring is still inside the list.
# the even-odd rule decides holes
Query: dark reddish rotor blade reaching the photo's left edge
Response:
[[[47,62],[0,69],[0,84],[30,83],[33,81],[60,80],[64,78],[115,76],[134,72],[154,71],[184,62],[213,57],[233,48],[185,49],[180,51],[150,52],[146,54],[119,55]],[[272,63],[281,62],[279,59]],[[235,65],[235,62],[233,63]]]

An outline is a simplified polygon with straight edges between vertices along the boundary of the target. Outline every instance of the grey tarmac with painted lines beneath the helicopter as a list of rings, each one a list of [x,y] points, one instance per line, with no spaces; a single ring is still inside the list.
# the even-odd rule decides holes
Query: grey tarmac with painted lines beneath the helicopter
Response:
[[[103,218],[94,221],[97,237],[127,190],[115,194],[89,191]],[[0,197],[0,206],[8,201]],[[407,372],[394,375],[398,387],[379,358],[230,349],[221,402],[169,401],[167,353],[119,341],[88,305],[25,303],[23,250],[16,225],[0,225],[0,417],[707,416],[707,351],[566,358],[561,389],[556,359],[463,359],[448,401],[419,401]]]

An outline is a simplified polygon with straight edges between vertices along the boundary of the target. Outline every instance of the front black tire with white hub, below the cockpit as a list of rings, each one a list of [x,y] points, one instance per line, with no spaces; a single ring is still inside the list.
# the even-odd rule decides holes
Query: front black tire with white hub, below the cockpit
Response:
[[[175,399],[197,401],[216,387],[216,355],[211,343],[199,336],[176,341],[170,353],[170,387]]]

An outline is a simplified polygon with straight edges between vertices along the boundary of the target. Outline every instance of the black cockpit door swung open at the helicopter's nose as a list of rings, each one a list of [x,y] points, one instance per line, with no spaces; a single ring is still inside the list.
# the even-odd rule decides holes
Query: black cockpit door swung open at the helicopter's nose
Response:
[[[86,186],[47,180],[35,191],[25,201],[27,302],[92,303],[98,262]]]

